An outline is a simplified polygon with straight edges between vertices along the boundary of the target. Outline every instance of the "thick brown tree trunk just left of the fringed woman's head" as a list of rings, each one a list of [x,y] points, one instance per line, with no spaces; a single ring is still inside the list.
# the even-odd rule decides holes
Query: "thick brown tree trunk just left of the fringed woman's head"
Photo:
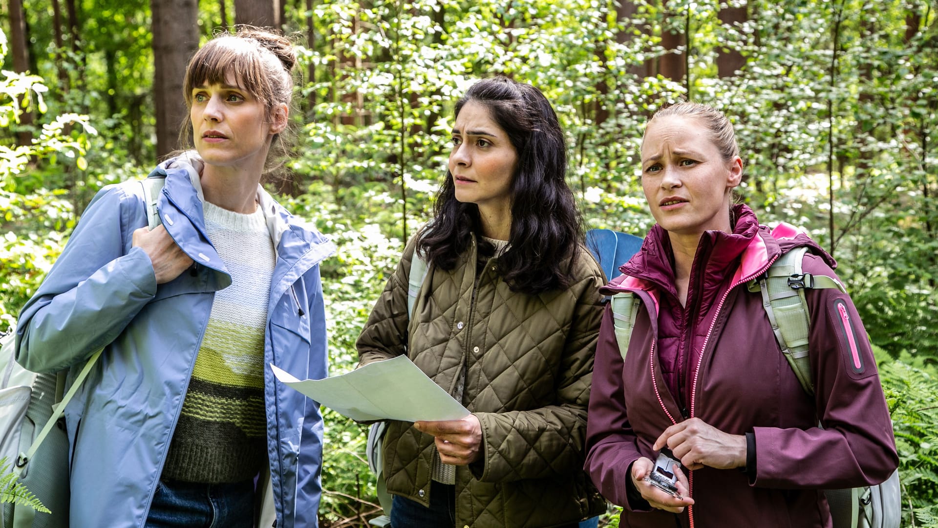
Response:
[[[150,0],[153,11],[153,99],[157,156],[180,148],[179,128],[188,117],[182,83],[189,57],[199,46],[196,0]]]

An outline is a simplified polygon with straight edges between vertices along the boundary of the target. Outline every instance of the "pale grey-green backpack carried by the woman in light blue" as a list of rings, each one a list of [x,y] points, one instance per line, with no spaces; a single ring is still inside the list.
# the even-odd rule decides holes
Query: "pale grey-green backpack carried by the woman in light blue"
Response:
[[[157,197],[164,180],[140,182],[151,229],[159,225]],[[52,513],[5,504],[0,528],[67,528],[69,462],[63,413],[102,349],[85,362],[66,392],[68,370],[41,374],[26,370],[16,363],[15,341],[15,329],[0,335],[0,458],[7,458],[17,480]]]

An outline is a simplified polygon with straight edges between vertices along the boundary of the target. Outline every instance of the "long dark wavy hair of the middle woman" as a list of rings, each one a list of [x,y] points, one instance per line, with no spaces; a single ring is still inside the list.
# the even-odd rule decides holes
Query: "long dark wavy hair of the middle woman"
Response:
[[[513,291],[538,293],[573,282],[573,257],[580,251],[582,221],[567,187],[567,141],[551,103],[532,85],[506,77],[483,79],[456,103],[456,116],[469,102],[489,109],[518,153],[511,180],[510,247],[498,258],[498,272]],[[433,207],[434,219],[418,235],[417,251],[444,270],[456,267],[472,234],[481,234],[478,207],[456,199],[446,171]],[[491,244],[478,241],[483,251]]]

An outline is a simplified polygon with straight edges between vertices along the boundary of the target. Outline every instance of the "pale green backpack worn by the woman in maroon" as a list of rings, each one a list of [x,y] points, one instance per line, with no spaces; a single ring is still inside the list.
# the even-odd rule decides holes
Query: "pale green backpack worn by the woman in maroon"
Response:
[[[762,276],[749,281],[747,287],[750,292],[762,293],[765,315],[772,325],[779,348],[802,389],[813,397],[814,375],[808,357],[810,319],[805,289],[846,290],[833,277],[802,272],[802,262],[807,252],[807,247],[800,246],[780,256]],[[608,253],[606,256],[609,256]],[[611,303],[615,340],[619,353],[625,359],[641,302],[631,293],[617,293],[612,296]],[[901,504],[898,469],[882,484],[853,489],[825,489],[825,495],[834,528],[899,528]]]

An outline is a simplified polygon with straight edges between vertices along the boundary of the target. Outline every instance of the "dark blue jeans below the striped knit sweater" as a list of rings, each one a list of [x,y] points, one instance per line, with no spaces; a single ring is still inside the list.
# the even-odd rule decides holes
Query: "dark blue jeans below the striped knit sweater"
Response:
[[[252,528],[254,479],[199,484],[160,479],[146,528]]]

